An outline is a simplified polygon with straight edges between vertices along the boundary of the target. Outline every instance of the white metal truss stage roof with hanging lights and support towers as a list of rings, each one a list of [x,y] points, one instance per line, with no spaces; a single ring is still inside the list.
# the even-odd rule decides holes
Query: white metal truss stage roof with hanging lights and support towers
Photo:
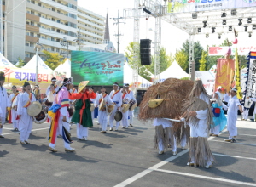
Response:
[[[236,29],[239,38],[240,32],[247,32],[248,37],[252,37],[256,31],[256,0],[134,0],[134,8],[124,9],[123,14],[125,19],[134,19],[134,42],[139,42],[140,18],[146,18],[148,14],[155,18],[154,83],[160,79],[161,20],[189,34],[189,75],[192,80],[195,78],[195,72],[191,71],[195,66],[195,35],[220,39],[223,33]],[[134,58],[139,60],[138,55]],[[137,70],[133,73],[133,82],[137,82],[137,73]]]

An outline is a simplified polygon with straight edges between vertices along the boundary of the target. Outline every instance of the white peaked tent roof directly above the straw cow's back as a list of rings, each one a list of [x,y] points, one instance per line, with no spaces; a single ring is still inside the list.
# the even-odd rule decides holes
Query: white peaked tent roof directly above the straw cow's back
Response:
[[[177,61],[173,61],[172,65],[160,73],[160,82],[165,81],[167,78],[183,78],[189,77],[189,74],[183,71],[181,66],[177,64]]]

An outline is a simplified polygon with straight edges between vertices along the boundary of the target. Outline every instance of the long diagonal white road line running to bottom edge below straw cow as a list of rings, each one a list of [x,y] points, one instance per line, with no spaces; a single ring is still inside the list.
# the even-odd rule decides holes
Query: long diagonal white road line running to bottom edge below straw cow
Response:
[[[179,152],[176,156],[171,156],[171,157],[167,158],[165,161],[160,161],[160,163],[155,164],[153,167],[149,167],[148,169],[144,170],[143,172],[137,173],[137,175],[134,175],[133,177],[126,179],[125,181],[123,181],[120,184],[115,185],[114,187],[124,187],[128,184],[131,184],[134,181],[136,181],[137,179],[142,178],[143,176],[147,175],[148,173],[153,172],[157,168],[164,166],[166,163],[173,161],[177,157],[183,156],[187,152],[189,152],[189,150],[183,150],[182,152]]]

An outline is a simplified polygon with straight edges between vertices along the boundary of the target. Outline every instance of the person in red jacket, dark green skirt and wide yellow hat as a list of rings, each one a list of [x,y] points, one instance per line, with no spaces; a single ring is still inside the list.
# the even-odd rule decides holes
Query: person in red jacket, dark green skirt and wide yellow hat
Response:
[[[90,89],[86,90],[86,85],[89,81],[79,83],[79,91],[76,94],[69,93],[69,99],[77,99],[74,108],[72,122],[77,123],[77,138],[79,140],[87,140],[88,127],[93,126],[91,111],[90,111],[90,99],[95,99],[96,94]]]

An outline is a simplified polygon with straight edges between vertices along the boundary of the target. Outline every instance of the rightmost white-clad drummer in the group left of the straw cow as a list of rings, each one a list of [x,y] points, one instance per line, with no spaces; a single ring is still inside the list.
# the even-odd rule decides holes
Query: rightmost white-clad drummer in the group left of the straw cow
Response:
[[[124,104],[128,104],[129,101],[131,99],[133,99],[133,93],[129,90],[129,84],[125,84],[124,88],[123,88],[123,95],[122,95],[122,99],[123,99],[123,105]],[[123,128],[128,128],[129,125],[129,121],[128,121],[128,114],[129,114],[129,110],[123,112],[123,118],[122,118],[122,125]]]

